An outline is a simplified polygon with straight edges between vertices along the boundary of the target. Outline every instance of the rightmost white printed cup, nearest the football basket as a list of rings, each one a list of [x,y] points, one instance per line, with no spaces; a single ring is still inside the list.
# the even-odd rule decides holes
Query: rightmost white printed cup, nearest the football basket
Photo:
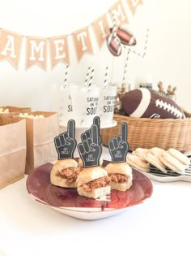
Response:
[[[114,108],[117,100],[117,86],[108,85],[100,89],[99,116],[100,124],[112,124]]]

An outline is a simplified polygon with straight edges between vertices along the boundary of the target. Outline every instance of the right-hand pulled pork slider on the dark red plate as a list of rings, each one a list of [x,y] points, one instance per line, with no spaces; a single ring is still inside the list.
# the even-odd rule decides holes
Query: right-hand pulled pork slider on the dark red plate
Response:
[[[108,171],[112,189],[125,191],[131,187],[133,175],[127,163],[108,163],[104,169]]]

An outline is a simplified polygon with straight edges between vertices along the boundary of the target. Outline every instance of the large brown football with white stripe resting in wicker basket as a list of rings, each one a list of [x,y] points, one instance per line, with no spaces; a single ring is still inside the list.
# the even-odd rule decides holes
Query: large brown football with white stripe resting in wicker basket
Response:
[[[134,89],[124,94],[122,107],[131,117],[177,119],[185,118],[180,106],[164,94],[146,88]]]

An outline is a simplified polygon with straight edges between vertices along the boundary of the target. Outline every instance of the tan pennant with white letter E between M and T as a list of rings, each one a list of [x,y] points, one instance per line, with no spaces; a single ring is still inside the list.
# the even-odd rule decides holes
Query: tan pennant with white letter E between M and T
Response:
[[[58,63],[70,65],[68,40],[66,36],[50,37],[49,46],[52,69],[56,67]]]

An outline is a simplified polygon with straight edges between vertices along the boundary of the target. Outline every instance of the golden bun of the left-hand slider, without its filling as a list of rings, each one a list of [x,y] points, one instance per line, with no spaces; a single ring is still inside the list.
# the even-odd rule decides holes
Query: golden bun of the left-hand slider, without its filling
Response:
[[[76,183],[66,184],[66,179],[57,176],[57,172],[70,167],[78,167],[78,163],[74,159],[63,159],[58,160],[50,171],[50,182],[59,187],[63,188],[76,188]]]

